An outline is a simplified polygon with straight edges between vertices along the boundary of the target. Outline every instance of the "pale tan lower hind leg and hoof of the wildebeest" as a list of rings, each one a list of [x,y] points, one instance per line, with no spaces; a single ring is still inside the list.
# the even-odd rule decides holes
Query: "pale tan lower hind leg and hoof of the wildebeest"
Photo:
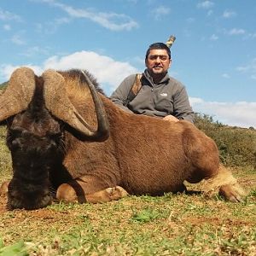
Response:
[[[218,173],[210,177],[204,183],[204,193],[207,196],[216,195],[217,193],[227,201],[239,202],[246,195],[245,191],[237,183],[236,178],[230,170],[224,166],[218,167]]]

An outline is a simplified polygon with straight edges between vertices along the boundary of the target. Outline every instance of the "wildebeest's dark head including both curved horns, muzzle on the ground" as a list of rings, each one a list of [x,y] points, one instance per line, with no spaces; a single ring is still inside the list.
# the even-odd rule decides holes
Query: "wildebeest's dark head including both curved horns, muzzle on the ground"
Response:
[[[14,176],[9,183],[10,208],[38,208],[50,203],[49,175],[65,154],[64,129],[81,139],[108,138],[108,119],[97,92],[85,73],[80,73],[95,102],[98,128],[93,129],[68,99],[61,73],[45,71],[37,77],[21,67],[12,74],[0,96],[0,122],[6,120],[7,144]]]

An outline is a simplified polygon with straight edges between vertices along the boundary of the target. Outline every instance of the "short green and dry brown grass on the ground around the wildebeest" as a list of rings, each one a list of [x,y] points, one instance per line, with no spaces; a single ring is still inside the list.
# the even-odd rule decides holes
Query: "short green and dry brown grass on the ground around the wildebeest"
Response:
[[[11,163],[3,130],[0,136],[3,182]],[[250,191],[238,204],[166,194],[8,212],[0,197],[0,255],[256,255],[256,173],[234,173]]]

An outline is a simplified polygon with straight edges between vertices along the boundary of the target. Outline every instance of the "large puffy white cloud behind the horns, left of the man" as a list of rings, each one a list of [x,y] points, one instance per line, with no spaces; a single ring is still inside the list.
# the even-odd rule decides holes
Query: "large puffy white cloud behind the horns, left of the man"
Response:
[[[102,89],[105,90],[107,94],[113,92],[126,76],[138,72],[137,69],[132,67],[128,62],[114,61],[106,55],[98,55],[96,52],[92,51],[80,51],[65,56],[55,55],[44,61],[41,67],[31,64],[22,65],[32,67],[38,75],[48,68],[57,70],[67,70],[70,68],[86,69],[102,84]],[[0,77],[4,80],[8,80],[10,74],[17,67],[2,65],[0,68]]]

